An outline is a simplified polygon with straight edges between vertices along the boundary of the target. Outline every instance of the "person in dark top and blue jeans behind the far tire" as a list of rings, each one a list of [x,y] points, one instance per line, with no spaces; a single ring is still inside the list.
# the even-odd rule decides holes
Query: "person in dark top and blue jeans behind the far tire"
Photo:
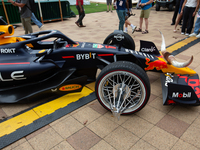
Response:
[[[114,4],[113,4],[119,18],[119,30],[122,30],[122,31],[124,30],[126,8],[129,13],[128,1],[129,0],[114,0]]]

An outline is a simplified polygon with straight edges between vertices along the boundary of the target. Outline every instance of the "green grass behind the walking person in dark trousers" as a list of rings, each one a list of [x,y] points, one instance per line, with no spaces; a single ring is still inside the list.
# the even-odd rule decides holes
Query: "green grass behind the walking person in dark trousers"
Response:
[[[101,3],[90,3],[90,5],[84,5],[83,7],[85,9],[86,14],[102,12],[107,10],[107,5]],[[70,8],[76,15],[78,15],[78,10],[76,9],[76,5],[71,5]]]

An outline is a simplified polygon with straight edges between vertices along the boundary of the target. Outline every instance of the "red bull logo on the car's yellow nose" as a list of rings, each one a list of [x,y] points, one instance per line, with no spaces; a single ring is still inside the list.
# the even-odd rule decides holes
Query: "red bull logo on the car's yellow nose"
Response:
[[[161,59],[158,58],[158,60],[155,60],[153,62],[150,62],[149,58],[146,58],[146,63],[145,63],[148,67],[144,68],[145,70],[162,70],[162,69],[166,69],[167,67],[167,63]]]

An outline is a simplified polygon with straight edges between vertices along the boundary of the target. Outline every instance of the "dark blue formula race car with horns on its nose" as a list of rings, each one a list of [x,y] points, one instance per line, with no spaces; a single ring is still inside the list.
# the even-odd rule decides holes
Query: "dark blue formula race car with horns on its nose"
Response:
[[[163,73],[163,103],[199,105],[199,77],[152,42],[135,51],[131,36],[114,31],[103,44],[75,42],[57,30],[12,37],[0,25],[0,103],[27,100],[39,93],[80,92],[96,81],[99,102],[115,116],[141,110],[150,96],[146,71]],[[162,34],[161,34],[162,35]],[[96,79],[97,69],[101,69]]]

